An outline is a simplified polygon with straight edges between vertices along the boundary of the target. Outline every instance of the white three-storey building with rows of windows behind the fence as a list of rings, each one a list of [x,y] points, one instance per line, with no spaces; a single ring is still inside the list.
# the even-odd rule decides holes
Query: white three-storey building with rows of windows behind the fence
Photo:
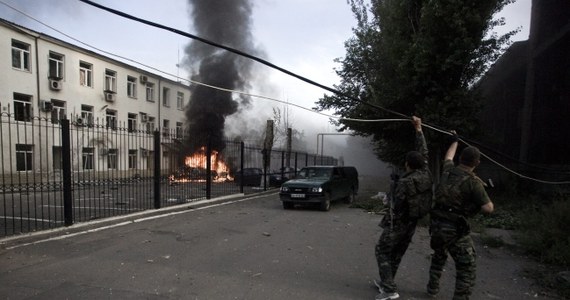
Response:
[[[72,127],[105,128],[109,136],[121,130],[159,130],[166,135],[181,132],[184,126],[188,85],[2,19],[0,70],[5,124],[0,139],[3,153],[10,154],[0,157],[4,173],[60,168],[59,135],[30,130],[34,122],[57,125],[68,119]],[[97,134],[81,139],[85,140],[72,150],[73,169],[78,172],[150,167],[146,149],[126,138]],[[125,163],[117,163],[119,156]]]

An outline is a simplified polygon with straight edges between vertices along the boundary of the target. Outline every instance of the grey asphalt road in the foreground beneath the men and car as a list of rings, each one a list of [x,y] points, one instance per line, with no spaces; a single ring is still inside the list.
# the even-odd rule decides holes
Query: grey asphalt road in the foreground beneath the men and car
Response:
[[[0,296],[374,299],[381,216],[341,203],[329,212],[283,210],[275,193],[193,205],[4,242]],[[427,244],[421,228],[397,276],[401,299],[428,299]],[[528,280],[517,277],[520,268],[497,263],[516,257],[482,251],[473,299],[537,299]],[[491,269],[498,278],[486,275]],[[440,299],[451,298],[450,271]]]

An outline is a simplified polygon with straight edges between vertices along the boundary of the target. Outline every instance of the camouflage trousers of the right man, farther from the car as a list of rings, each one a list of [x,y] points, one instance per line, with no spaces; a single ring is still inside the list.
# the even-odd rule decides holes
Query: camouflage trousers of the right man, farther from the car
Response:
[[[473,240],[467,233],[458,231],[456,225],[432,220],[430,246],[434,253],[429,270],[428,292],[439,291],[439,279],[448,254],[455,262],[455,293],[453,299],[469,299],[475,285],[476,253]]]

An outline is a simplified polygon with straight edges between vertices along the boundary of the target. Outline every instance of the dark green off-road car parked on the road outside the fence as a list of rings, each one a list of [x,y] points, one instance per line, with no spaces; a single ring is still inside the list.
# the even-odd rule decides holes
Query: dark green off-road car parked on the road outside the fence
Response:
[[[358,194],[358,171],[355,167],[304,167],[294,179],[284,182],[279,198],[284,209],[296,204],[318,204],[328,211],[331,202],[345,200],[352,203]]]

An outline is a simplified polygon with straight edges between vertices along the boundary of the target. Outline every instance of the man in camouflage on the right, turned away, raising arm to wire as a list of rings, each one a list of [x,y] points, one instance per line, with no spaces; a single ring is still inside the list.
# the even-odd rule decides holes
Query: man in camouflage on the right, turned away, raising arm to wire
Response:
[[[439,279],[448,253],[455,261],[456,278],[453,299],[469,299],[475,284],[475,248],[470,236],[468,218],[478,212],[493,212],[493,202],[484,183],[473,170],[479,165],[480,152],[466,147],[454,166],[457,135],[445,154],[441,182],[435,190],[435,206],[431,211],[430,246],[434,250],[429,270],[427,292],[439,292]]]

